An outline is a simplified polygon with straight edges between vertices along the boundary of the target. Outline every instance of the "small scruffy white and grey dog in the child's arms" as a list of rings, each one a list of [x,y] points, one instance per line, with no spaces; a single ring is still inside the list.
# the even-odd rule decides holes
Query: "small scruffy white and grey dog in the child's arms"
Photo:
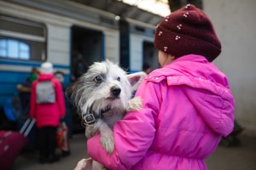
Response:
[[[128,75],[119,65],[107,60],[90,65],[89,70],[67,88],[67,98],[84,121],[87,139],[101,133],[103,148],[113,152],[113,124],[122,119],[126,111],[142,107],[141,99],[131,99],[131,93],[145,76],[144,72]]]

